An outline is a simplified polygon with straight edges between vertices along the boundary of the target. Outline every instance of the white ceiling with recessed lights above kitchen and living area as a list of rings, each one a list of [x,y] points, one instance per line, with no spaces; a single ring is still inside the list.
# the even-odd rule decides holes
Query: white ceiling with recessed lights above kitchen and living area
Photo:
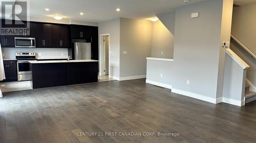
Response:
[[[52,17],[62,15],[66,19],[82,21],[105,21],[117,17],[150,18],[173,8],[205,0],[31,0],[30,15]],[[45,8],[50,10],[47,12]],[[120,12],[116,9],[120,8]],[[79,15],[80,12],[84,14]]]

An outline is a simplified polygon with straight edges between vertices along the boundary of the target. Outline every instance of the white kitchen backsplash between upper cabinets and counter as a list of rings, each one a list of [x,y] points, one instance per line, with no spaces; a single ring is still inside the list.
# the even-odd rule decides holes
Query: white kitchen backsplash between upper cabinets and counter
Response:
[[[67,48],[2,48],[3,59],[15,59],[15,52],[36,52],[37,59],[68,58]]]

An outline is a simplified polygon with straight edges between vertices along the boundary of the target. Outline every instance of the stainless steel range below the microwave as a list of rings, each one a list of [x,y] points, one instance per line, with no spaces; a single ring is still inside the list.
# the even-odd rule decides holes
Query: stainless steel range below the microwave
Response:
[[[16,52],[18,81],[32,79],[29,61],[36,61],[35,52]]]

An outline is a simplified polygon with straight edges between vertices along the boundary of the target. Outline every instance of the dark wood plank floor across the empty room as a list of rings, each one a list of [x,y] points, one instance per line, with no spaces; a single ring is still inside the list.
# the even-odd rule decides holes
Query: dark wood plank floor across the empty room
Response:
[[[256,102],[211,104],[144,79],[9,92],[0,99],[0,142],[255,142]],[[173,132],[179,136],[79,136]]]

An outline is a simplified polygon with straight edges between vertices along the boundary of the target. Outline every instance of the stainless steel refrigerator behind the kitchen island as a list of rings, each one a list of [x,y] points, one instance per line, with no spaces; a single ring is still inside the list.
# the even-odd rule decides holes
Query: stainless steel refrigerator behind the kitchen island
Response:
[[[74,43],[74,59],[75,60],[91,60],[92,51],[91,43],[75,42]]]

